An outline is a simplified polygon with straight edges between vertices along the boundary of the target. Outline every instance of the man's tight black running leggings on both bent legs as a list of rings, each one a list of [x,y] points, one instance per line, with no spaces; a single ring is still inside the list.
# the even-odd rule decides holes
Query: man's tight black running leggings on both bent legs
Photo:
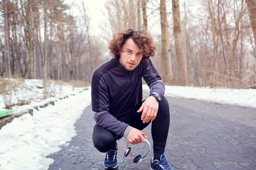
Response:
[[[143,101],[144,102],[144,101]],[[143,130],[149,125],[148,123],[143,123],[141,120],[141,113],[137,113],[137,110],[141,107],[142,103],[137,105],[135,108],[128,112],[122,113],[121,115],[115,116],[117,120],[125,122],[131,127],[139,130]],[[157,111],[157,116],[152,122],[151,134],[153,138],[153,150],[154,155],[160,155],[164,153],[166,140],[168,136],[170,124],[170,113],[169,113],[169,103],[165,97],[159,102],[159,107]],[[110,130],[107,130],[98,124],[93,128],[93,144],[97,150],[100,152],[108,152],[113,147],[115,147],[116,140],[121,139],[123,136],[118,136]]]

